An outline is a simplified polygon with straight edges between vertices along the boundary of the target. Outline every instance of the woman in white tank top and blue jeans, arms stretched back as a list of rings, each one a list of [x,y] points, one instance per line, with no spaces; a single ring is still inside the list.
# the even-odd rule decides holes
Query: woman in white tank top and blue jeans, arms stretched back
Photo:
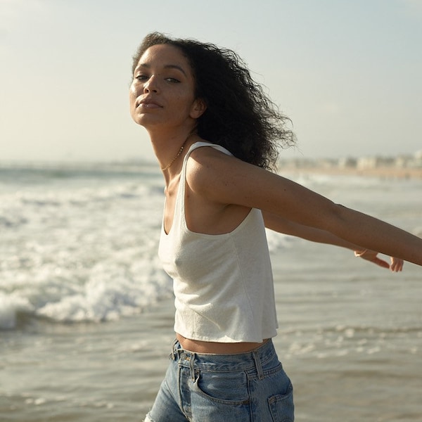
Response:
[[[146,421],[293,421],[293,388],[271,342],[264,228],[392,271],[422,264],[422,240],[270,172],[277,142],[289,146],[293,134],[233,51],[153,33],[132,75],[131,114],[165,178],[159,255],[176,305],[172,359]]]

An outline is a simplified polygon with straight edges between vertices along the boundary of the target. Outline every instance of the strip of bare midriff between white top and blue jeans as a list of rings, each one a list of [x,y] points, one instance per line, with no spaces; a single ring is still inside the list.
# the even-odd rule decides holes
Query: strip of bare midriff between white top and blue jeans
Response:
[[[212,341],[191,340],[185,338],[183,335],[177,334],[177,340],[184,350],[195,353],[209,353],[209,354],[234,354],[245,353],[255,350],[257,347],[267,343],[269,338],[266,338],[262,343],[217,343]]]

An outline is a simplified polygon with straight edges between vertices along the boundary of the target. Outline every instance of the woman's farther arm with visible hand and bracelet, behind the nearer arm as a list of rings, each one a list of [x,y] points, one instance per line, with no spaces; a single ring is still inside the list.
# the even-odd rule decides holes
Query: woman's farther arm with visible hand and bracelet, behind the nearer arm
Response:
[[[279,233],[296,236],[307,241],[317,243],[327,243],[328,245],[340,246],[354,251],[356,257],[361,257],[364,260],[372,262],[383,268],[388,268],[391,271],[402,271],[403,260],[396,257],[390,257],[391,264],[378,257],[378,252],[362,248],[362,246],[345,241],[338,236],[331,234],[329,231],[316,229],[314,227],[304,226],[295,222],[291,222],[278,215],[271,214],[270,212],[262,212],[264,217],[265,226],[268,229],[278,231]]]

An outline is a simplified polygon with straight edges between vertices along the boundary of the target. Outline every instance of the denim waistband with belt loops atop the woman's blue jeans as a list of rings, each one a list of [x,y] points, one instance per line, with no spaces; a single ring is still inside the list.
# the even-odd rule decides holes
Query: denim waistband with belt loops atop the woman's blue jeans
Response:
[[[257,347],[251,352],[236,354],[206,354],[184,350],[178,340],[174,340],[170,357],[182,366],[202,371],[250,371],[255,370],[260,378],[263,377],[265,364],[277,359],[272,340]]]

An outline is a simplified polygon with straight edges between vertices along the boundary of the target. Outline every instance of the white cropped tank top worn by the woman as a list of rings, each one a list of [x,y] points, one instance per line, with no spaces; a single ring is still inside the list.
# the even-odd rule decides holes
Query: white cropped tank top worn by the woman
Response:
[[[162,222],[158,255],[173,279],[174,331],[191,340],[254,342],[276,335],[274,283],[260,210],[252,208],[236,229],[201,234],[188,229],[184,201],[186,162],[200,147],[194,143],[183,162],[170,233]]]

